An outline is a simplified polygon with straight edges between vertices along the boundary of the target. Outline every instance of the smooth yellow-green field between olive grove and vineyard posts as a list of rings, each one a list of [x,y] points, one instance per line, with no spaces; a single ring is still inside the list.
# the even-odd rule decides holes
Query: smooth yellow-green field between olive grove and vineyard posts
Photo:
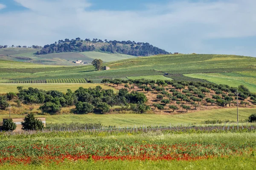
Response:
[[[256,108],[239,108],[239,120],[247,119]],[[12,115],[13,117],[24,117],[22,114]],[[0,119],[9,117],[9,114],[0,114]],[[41,115],[37,115],[41,117]],[[65,114],[44,116],[47,123],[102,123],[102,125],[134,126],[134,125],[169,125],[170,123],[201,123],[205,120],[219,119],[236,121],[236,108],[214,109],[198,111],[193,113],[182,113],[175,115],[158,114]]]

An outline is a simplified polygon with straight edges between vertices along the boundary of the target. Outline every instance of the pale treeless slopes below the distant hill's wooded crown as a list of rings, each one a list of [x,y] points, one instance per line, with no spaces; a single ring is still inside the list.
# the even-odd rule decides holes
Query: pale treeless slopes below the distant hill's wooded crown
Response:
[[[63,52],[63,53],[52,53],[37,55],[36,52],[40,49],[34,48],[0,48],[0,59],[17,61],[17,62],[29,62],[41,65],[84,65],[75,64],[72,61],[82,60],[83,62],[88,62],[89,64],[93,59],[102,59],[103,62],[111,62],[122,59],[134,58],[135,56],[119,54],[119,53],[103,53],[97,51],[87,51],[87,52]]]

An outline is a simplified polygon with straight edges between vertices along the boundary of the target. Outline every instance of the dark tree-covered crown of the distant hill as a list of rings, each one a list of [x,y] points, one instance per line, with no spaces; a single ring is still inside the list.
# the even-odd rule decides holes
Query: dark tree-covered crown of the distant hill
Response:
[[[91,44],[84,44],[83,42],[90,42]],[[97,44],[96,43],[102,43]],[[38,51],[37,54],[50,54],[58,52],[84,52],[84,51],[101,51],[101,52],[110,52],[110,53],[120,53],[128,54],[132,56],[148,56],[148,55],[157,55],[157,54],[170,54],[169,52],[154,47],[148,42],[135,42],[135,41],[108,41],[108,40],[98,40],[98,39],[85,39],[81,38],[76,39],[65,39],[58,40],[50,45],[44,45],[41,51]]]

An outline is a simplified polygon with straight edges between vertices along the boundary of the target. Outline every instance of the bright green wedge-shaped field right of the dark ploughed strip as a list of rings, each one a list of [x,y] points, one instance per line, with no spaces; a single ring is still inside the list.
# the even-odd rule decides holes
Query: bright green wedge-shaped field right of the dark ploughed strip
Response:
[[[252,75],[247,75],[247,74]],[[254,75],[254,76],[253,76]],[[251,92],[256,93],[256,72],[234,72],[234,73],[208,73],[208,74],[185,74],[185,76],[206,79],[216,84],[227,84],[233,87],[244,85]]]

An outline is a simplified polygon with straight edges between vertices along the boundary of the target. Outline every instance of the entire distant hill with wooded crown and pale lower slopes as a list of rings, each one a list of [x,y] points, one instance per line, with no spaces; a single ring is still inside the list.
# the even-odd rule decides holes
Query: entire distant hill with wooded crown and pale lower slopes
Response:
[[[98,39],[65,39],[50,45],[14,46],[0,45],[0,59],[18,62],[29,62],[44,65],[90,65],[93,59],[112,62],[138,56],[170,54],[150,45],[148,42],[134,41],[102,41]],[[81,63],[75,63],[81,60]]]

